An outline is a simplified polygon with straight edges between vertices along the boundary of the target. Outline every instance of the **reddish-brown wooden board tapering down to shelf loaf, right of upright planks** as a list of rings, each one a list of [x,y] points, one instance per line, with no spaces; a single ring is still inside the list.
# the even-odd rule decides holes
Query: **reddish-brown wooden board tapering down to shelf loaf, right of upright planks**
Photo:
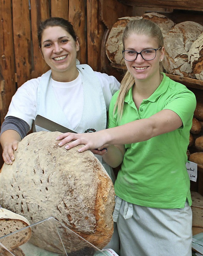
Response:
[[[131,6],[124,5],[116,0],[100,0],[100,6],[101,20],[108,29],[112,28],[113,24],[118,20],[118,18],[133,16],[133,8]]]

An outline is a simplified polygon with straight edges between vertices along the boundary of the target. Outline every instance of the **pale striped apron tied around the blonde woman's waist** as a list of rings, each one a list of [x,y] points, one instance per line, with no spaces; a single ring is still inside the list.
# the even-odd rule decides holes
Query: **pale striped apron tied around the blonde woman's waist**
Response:
[[[192,211],[134,205],[115,197],[120,256],[191,256]]]

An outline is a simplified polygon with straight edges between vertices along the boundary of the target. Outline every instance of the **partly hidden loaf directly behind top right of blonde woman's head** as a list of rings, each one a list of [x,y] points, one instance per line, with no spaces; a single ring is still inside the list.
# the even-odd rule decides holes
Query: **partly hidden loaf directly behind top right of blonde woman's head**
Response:
[[[157,12],[145,13],[143,14],[143,19],[151,20],[156,23],[160,27],[163,37],[165,37],[169,30],[171,30],[175,25],[171,19]]]

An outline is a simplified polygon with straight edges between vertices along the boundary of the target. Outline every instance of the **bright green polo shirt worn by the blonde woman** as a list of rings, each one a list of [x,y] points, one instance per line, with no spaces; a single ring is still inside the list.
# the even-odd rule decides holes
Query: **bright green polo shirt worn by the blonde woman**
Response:
[[[184,208],[186,199],[191,205],[186,152],[196,107],[193,92],[163,74],[161,84],[142,101],[139,110],[132,88],[129,90],[121,119],[117,112],[113,116],[117,97],[118,92],[109,106],[109,128],[149,118],[163,109],[177,113],[183,126],[147,141],[125,145],[126,153],[115,181],[116,195],[127,202],[154,208]]]

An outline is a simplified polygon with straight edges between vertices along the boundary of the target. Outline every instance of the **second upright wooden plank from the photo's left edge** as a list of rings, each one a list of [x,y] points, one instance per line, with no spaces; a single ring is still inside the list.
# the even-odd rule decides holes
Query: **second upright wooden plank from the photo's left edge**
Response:
[[[17,86],[31,78],[31,40],[29,2],[13,0],[13,34]]]

